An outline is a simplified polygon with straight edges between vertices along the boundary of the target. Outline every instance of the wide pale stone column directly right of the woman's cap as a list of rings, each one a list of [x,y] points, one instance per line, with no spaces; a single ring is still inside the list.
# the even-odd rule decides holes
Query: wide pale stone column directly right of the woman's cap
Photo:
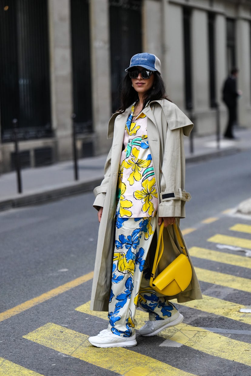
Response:
[[[168,0],[145,0],[143,8],[143,50],[160,59],[167,94],[180,108],[184,107],[182,9]]]

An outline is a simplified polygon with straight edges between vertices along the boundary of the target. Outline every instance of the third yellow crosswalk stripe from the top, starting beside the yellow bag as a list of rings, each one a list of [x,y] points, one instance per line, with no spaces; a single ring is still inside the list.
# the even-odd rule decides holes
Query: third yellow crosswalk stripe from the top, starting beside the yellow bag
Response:
[[[189,253],[193,257],[251,269],[251,258],[245,256],[232,255],[231,253],[218,252],[200,247],[190,248]]]

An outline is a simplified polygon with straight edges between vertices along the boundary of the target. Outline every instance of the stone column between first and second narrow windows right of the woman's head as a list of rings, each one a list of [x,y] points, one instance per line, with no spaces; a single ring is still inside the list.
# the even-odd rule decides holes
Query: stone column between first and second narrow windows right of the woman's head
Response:
[[[207,12],[192,12],[192,77],[193,109],[197,118],[197,131],[211,133],[212,120],[209,109],[209,62]],[[213,124],[214,127],[214,124]]]

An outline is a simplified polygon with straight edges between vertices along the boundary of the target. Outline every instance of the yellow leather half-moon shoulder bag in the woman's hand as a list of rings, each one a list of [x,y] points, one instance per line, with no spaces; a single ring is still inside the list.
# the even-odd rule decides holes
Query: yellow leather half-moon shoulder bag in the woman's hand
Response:
[[[176,223],[174,223],[173,229],[175,230],[176,237],[184,253],[181,253],[178,257],[176,257],[176,259],[174,259],[171,264],[169,264],[163,271],[161,271],[160,274],[158,274],[157,277],[155,277],[157,266],[160,262],[164,250],[163,229],[164,221],[160,226],[160,233],[154,258],[154,266],[152,268],[152,274],[150,278],[150,286],[155,291],[158,291],[165,296],[172,296],[186,290],[192,279],[192,268],[180,233],[178,231]]]

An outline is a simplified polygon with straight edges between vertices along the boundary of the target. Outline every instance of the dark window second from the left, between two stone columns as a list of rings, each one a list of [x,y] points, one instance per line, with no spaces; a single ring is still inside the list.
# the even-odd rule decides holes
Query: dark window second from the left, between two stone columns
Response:
[[[73,112],[78,132],[92,130],[89,1],[71,0]]]

